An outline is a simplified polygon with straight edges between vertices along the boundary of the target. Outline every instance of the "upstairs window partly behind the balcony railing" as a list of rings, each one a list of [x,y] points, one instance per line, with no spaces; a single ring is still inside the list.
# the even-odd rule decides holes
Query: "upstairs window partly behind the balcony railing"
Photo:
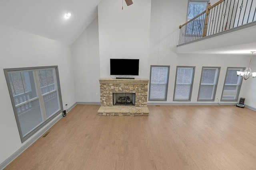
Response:
[[[197,0],[188,2],[188,16],[187,21],[191,20],[198,14],[204,12],[206,10],[208,1],[205,0]],[[204,18],[205,14],[199,18],[188,23],[186,28],[187,35],[202,35],[202,30],[204,27]]]

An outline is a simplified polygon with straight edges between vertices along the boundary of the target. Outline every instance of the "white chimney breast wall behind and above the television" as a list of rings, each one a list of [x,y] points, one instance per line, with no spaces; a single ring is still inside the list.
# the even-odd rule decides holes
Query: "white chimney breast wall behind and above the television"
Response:
[[[151,0],[102,0],[98,5],[100,77],[110,78],[110,58],[140,59],[139,76],[148,78]],[[128,66],[125,66],[128,67]]]

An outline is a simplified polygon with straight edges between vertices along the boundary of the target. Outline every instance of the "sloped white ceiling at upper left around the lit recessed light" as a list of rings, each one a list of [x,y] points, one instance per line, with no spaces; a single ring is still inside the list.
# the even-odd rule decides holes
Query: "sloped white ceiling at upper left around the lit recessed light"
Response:
[[[100,0],[0,0],[0,24],[72,44],[98,15]],[[70,12],[69,18],[65,17]]]

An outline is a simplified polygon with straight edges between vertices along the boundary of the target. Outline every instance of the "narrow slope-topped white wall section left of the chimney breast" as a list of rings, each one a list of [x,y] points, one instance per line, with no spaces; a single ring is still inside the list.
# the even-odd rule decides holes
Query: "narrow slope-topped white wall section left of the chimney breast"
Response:
[[[100,102],[98,17],[73,43],[72,59],[76,101]]]

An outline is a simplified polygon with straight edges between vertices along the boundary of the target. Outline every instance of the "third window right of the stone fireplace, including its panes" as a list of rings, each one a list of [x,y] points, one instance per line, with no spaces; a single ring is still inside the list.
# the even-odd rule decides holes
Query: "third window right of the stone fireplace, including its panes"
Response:
[[[202,67],[197,101],[214,101],[220,67]]]

